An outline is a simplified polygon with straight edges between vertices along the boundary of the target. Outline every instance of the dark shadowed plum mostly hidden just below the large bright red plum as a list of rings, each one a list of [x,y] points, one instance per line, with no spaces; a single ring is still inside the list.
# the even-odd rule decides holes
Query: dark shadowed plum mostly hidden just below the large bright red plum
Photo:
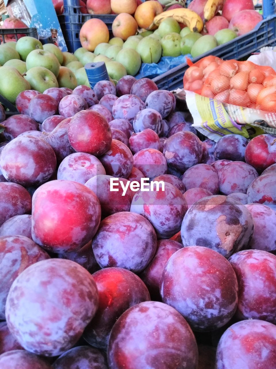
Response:
[[[78,263],[83,266],[89,273],[94,273],[100,269],[96,262],[92,249],[92,241],[89,241],[81,249],[77,251],[64,252],[63,254],[57,254],[59,259],[67,259]]]

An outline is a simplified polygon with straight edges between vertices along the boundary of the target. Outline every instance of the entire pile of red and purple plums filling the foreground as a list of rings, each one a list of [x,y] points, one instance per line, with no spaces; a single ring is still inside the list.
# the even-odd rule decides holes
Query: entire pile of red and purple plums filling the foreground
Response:
[[[131,76],[16,106],[0,368],[276,368],[276,137],[214,142]]]

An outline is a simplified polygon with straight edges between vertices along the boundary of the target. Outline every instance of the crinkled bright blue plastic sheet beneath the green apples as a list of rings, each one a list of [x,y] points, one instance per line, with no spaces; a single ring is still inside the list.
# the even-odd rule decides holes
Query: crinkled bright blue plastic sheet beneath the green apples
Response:
[[[168,72],[170,69],[177,67],[180,64],[186,63],[187,58],[192,59],[192,56],[190,54],[180,55],[177,57],[163,56],[157,64],[142,63],[139,73],[135,78],[154,78],[160,76],[160,74]]]

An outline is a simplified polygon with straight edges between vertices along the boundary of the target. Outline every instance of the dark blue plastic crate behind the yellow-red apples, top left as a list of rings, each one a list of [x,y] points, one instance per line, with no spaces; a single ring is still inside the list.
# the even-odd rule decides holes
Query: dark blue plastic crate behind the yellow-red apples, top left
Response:
[[[64,0],[64,13],[58,15],[60,28],[63,33],[67,48],[69,52],[76,51],[81,47],[79,41],[79,31],[82,25],[92,18],[102,20],[109,29],[110,36],[112,36],[112,23],[117,17],[117,14],[82,14],[80,11],[79,0]]]

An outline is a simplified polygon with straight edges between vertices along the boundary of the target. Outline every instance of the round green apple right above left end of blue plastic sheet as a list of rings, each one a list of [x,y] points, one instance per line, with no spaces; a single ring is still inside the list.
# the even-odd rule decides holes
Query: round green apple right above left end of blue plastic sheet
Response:
[[[148,36],[139,42],[136,51],[143,63],[158,63],[162,55],[162,46],[158,39]]]

